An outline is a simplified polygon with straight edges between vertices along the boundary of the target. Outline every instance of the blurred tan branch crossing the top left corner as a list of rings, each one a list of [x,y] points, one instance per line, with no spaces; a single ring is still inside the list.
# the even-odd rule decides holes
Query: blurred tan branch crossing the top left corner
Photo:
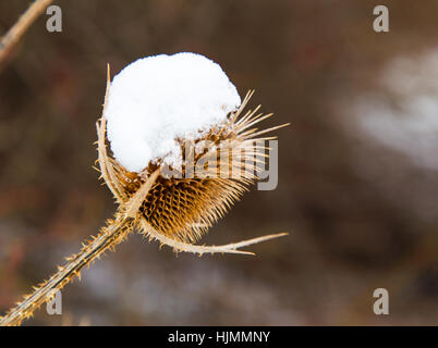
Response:
[[[19,21],[9,29],[9,32],[0,40],[0,67],[4,65],[11,50],[14,48],[20,38],[27,30],[32,23],[41,14],[41,12],[52,2],[52,0],[36,0],[21,15]]]

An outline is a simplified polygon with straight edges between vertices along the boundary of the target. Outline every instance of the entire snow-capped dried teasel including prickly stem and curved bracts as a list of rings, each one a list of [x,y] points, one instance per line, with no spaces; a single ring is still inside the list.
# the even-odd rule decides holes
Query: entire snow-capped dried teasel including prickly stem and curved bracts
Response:
[[[0,319],[0,325],[19,325],[32,316],[56,290],[80,277],[84,266],[134,229],[177,252],[199,256],[253,254],[239,248],[285,235],[223,246],[194,244],[257,179],[257,163],[266,159],[260,141],[275,138],[264,134],[284,126],[254,128],[271,114],[257,114],[259,107],[243,114],[251,96],[241,102],[221,67],[194,53],[138,60],[112,83],[108,67],[104,112],[97,122],[97,161],[118,210],[100,234],[34,287]],[[113,157],[107,151],[107,134]]]

